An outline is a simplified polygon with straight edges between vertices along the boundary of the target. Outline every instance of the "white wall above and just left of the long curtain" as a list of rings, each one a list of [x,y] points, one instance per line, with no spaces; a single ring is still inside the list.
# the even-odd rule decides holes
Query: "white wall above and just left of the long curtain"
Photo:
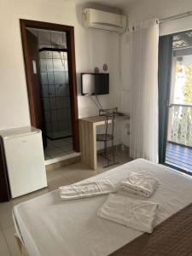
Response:
[[[145,0],[132,4],[125,14],[129,17],[129,24],[150,18],[164,19],[172,15],[179,15],[192,11],[191,0]],[[160,35],[170,34],[183,30],[192,29],[192,16],[179,20],[172,20],[160,24]],[[121,99],[122,110],[131,110],[131,84],[129,82],[129,55],[128,38],[126,33],[121,37]],[[124,133],[123,133],[124,132]],[[129,145],[129,137],[125,133],[125,124],[122,126],[121,142]]]

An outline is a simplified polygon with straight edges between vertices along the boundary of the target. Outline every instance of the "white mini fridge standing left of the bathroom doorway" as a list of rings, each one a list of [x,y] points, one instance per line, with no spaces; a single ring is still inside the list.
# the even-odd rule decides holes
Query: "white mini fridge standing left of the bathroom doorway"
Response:
[[[47,187],[42,133],[31,126],[0,131],[12,198]]]

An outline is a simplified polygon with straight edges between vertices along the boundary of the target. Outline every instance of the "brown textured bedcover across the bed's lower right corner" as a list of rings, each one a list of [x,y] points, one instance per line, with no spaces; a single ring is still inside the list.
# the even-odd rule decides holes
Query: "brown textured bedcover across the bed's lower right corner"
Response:
[[[192,204],[184,207],[154,228],[109,256],[192,255]]]

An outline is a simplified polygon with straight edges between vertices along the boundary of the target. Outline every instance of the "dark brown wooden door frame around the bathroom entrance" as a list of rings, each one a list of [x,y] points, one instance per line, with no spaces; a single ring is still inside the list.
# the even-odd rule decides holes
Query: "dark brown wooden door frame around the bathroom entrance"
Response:
[[[26,67],[26,85],[28,91],[29,108],[32,125],[36,125],[34,101],[32,98],[32,81],[30,79],[30,61],[28,55],[26,28],[45,29],[57,32],[66,32],[67,34],[67,58],[68,58],[68,79],[69,92],[72,114],[72,131],[73,131],[73,149],[79,152],[79,113],[78,113],[78,94],[76,80],[76,65],[75,65],[75,44],[74,44],[74,27],[61,24],[41,22],[36,20],[20,19],[20,33],[23,46],[23,55]]]

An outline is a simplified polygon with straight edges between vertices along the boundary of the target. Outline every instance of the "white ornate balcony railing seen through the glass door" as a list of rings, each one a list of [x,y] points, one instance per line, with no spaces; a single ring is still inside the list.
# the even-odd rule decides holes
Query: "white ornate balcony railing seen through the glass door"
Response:
[[[192,105],[170,105],[168,140],[192,147]]]

